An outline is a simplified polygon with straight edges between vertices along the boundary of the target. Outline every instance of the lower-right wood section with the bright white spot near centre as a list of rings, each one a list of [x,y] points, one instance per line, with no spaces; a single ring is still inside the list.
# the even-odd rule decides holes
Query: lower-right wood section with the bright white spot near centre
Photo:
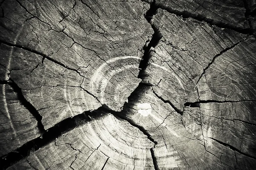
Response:
[[[157,142],[159,169],[256,167],[254,102],[205,103],[185,107],[180,116],[152,88],[144,87],[130,103],[122,116],[145,128]]]

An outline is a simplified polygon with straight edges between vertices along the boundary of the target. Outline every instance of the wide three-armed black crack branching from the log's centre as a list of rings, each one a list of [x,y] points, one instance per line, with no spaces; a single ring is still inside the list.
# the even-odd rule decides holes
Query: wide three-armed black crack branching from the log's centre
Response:
[[[162,38],[160,31],[153,24],[151,24],[151,19],[152,19],[153,15],[156,13],[156,10],[157,10],[157,7],[155,6],[155,0],[154,0],[150,5],[149,10],[146,12],[146,14],[144,16],[145,19],[148,21],[148,23],[151,25],[152,29],[154,30],[154,34],[152,35],[152,38],[149,41],[149,43],[146,42],[143,47],[144,54],[143,54],[143,58],[139,65],[140,72],[138,74],[138,78],[140,78],[142,80],[146,76],[145,70],[148,66],[148,62],[150,59],[150,52],[152,51],[152,48],[154,48],[158,44],[160,39]],[[23,48],[23,47],[19,47],[19,48]],[[25,50],[29,50],[29,49],[25,49]],[[32,52],[38,54],[38,52],[36,52],[36,51],[32,51]],[[43,57],[43,59],[44,58],[50,59],[49,57],[47,57],[41,53],[39,55],[41,55]],[[57,62],[52,59],[50,59],[50,60],[53,62]],[[58,63],[58,64],[64,66],[62,63]],[[67,68],[66,66],[64,66],[64,67]],[[67,68],[67,69],[73,70],[72,68]],[[76,71],[76,70],[73,70],[73,71]],[[154,147],[152,147],[150,149],[150,151],[151,151],[154,168],[155,168],[155,170],[159,170],[158,165],[157,165],[157,159],[154,155],[154,148],[157,145],[157,141],[155,141],[151,137],[151,135],[148,133],[147,130],[145,130],[144,127],[137,125],[133,120],[131,120],[125,116],[126,115],[125,111],[127,110],[128,107],[130,107],[129,101],[131,101],[131,98],[136,96],[136,94],[138,94],[141,91],[141,89],[143,88],[144,85],[147,85],[147,84],[145,84],[144,82],[139,83],[137,88],[128,97],[128,102],[125,103],[122,111],[120,111],[120,112],[111,110],[110,108],[108,108],[107,105],[102,105],[102,107],[100,107],[94,111],[86,111],[86,112],[76,115],[72,118],[70,117],[70,118],[64,119],[63,121],[57,123],[55,126],[49,128],[47,131],[45,131],[44,128],[42,127],[41,131],[44,132],[42,134],[42,136],[27,142],[23,146],[17,148],[15,151],[8,153],[7,155],[4,155],[0,158],[0,164],[2,165],[2,168],[3,169],[8,168],[10,165],[15,164],[16,162],[20,161],[24,157],[29,156],[31,151],[35,152],[39,148],[49,144],[50,142],[52,142],[53,140],[55,140],[56,138],[61,136],[62,133],[70,131],[70,130],[74,129],[75,127],[83,125],[84,123],[90,122],[93,119],[99,119],[100,117],[105,116],[105,114],[107,114],[107,113],[111,113],[117,119],[125,120],[128,123],[130,123],[132,126],[137,127],[141,132],[143,132],[143,134],[145,134],[145,136],[147,136],[147,138],[151,142],[154,143]],[[105,114],[102,114],[102,113],[105,113]],[[40,119],[41,119],[41,117],[38,118],[38,120],[40,120]],[[41,121],[38,121],[38,122],[41,123]]]

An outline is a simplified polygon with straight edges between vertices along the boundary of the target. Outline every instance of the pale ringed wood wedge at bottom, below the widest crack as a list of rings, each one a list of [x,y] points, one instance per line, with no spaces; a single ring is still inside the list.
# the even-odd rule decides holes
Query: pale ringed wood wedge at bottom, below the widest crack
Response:
[[[153,145],[136,127],[105,114],[64,133],[8,170],[149,170],[154,169]]]

